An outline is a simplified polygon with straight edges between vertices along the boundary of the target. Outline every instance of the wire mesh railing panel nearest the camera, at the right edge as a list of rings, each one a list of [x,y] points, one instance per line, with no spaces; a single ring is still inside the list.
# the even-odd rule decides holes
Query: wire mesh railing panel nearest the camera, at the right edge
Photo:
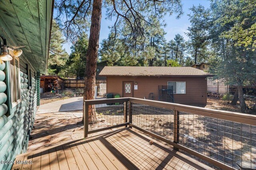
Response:
[[[179,120],[180,145],[233,168],[256,168],[256,126],[185,112]]]

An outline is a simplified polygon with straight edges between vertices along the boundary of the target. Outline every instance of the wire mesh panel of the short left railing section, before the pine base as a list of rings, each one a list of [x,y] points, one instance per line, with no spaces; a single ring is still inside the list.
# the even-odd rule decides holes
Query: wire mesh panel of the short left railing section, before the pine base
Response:
[[[94,115],[89,115],[88,117],[88,131],[125,123],[123,103],[95,104],[90,106],[94,107],[95,111]],[[89,109],[91,108],[90,106]]]

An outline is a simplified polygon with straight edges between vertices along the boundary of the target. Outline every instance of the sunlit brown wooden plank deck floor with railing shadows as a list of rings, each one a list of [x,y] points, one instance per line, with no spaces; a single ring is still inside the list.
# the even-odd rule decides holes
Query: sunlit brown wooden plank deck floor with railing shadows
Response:
[[[129,128],[16,156],[12,170],[212,169]],[[15,162],[16,163],[16,162]]]

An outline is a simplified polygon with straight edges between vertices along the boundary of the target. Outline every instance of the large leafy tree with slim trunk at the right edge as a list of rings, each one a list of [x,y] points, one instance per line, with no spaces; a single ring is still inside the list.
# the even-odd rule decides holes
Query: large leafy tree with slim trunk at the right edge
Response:
[[[238,86],[241,111],[245,112],[242,86],[256,81],[255,0],[212,0],[209,9],[194,7],[192,20],[210,43],[210,72]],[[251,34],[252,33],[252,34]]]

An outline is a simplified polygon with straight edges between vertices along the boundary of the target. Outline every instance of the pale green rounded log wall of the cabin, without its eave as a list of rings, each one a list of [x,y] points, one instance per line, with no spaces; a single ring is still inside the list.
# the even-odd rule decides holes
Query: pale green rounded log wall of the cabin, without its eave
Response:
[[[36,72],[27,63],[26,60],[19,60],[21,100],[13,108],[8,107],[10,91],[6,87],[8,74],[10,75],[6,65],[9,63],[0,63],[0,160],[14,160],[17,154],[26,152],[28,147],[36,114],[37,90]],[[0,169],[10,169],[11,166],[12,164],[0,164]]]

